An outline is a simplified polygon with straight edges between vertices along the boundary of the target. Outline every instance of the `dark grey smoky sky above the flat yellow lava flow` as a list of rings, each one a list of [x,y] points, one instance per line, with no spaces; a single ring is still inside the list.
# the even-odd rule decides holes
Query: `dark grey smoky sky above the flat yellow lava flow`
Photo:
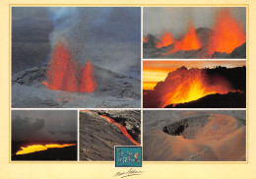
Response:
[[[12,141],[76,140],[76,111],[12,111]]]

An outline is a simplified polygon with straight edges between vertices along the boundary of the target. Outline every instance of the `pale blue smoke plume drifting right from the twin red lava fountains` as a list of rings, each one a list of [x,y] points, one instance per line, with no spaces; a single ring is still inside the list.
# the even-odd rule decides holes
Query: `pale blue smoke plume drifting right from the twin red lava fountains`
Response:
[[[88,60],[119,73],[140,66],[140,8],[48,8],[51,48],[64,41],[81,65]]]

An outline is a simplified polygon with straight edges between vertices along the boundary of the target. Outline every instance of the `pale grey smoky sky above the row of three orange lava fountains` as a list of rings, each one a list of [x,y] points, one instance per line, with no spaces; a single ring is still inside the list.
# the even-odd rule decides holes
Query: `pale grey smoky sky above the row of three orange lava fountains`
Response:
[[[212,29],[216,21],[216,12],[222,7],[170,7],[170,8],[144,8],[143,33],[160,35],[161,31],[171,31],[173,36],[180,38],[192,22],[195,29]],[[246,31],[246,8],[229,7],[229,12]]]

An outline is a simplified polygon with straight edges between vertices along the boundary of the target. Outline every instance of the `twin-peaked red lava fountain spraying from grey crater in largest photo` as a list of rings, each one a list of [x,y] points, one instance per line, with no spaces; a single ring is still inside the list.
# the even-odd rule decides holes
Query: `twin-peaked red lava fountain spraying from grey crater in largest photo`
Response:
[[[46,82],[42,84],[52,90],[93,92],[96,90],[94,67],[88,61],[83,70],[80,70],[79,64],[72,60],[68,48],[60,41],[53,49]]]

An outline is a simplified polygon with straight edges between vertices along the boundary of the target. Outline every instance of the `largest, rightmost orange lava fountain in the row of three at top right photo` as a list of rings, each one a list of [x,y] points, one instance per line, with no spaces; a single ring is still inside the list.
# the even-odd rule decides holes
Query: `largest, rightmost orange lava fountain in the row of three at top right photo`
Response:
[[[225,9],[217,14],[212,41],[209,44],[209,52],[226,52],[232,50],[246,41],[246,34],[242,26],[231,17],[229,10]]]

